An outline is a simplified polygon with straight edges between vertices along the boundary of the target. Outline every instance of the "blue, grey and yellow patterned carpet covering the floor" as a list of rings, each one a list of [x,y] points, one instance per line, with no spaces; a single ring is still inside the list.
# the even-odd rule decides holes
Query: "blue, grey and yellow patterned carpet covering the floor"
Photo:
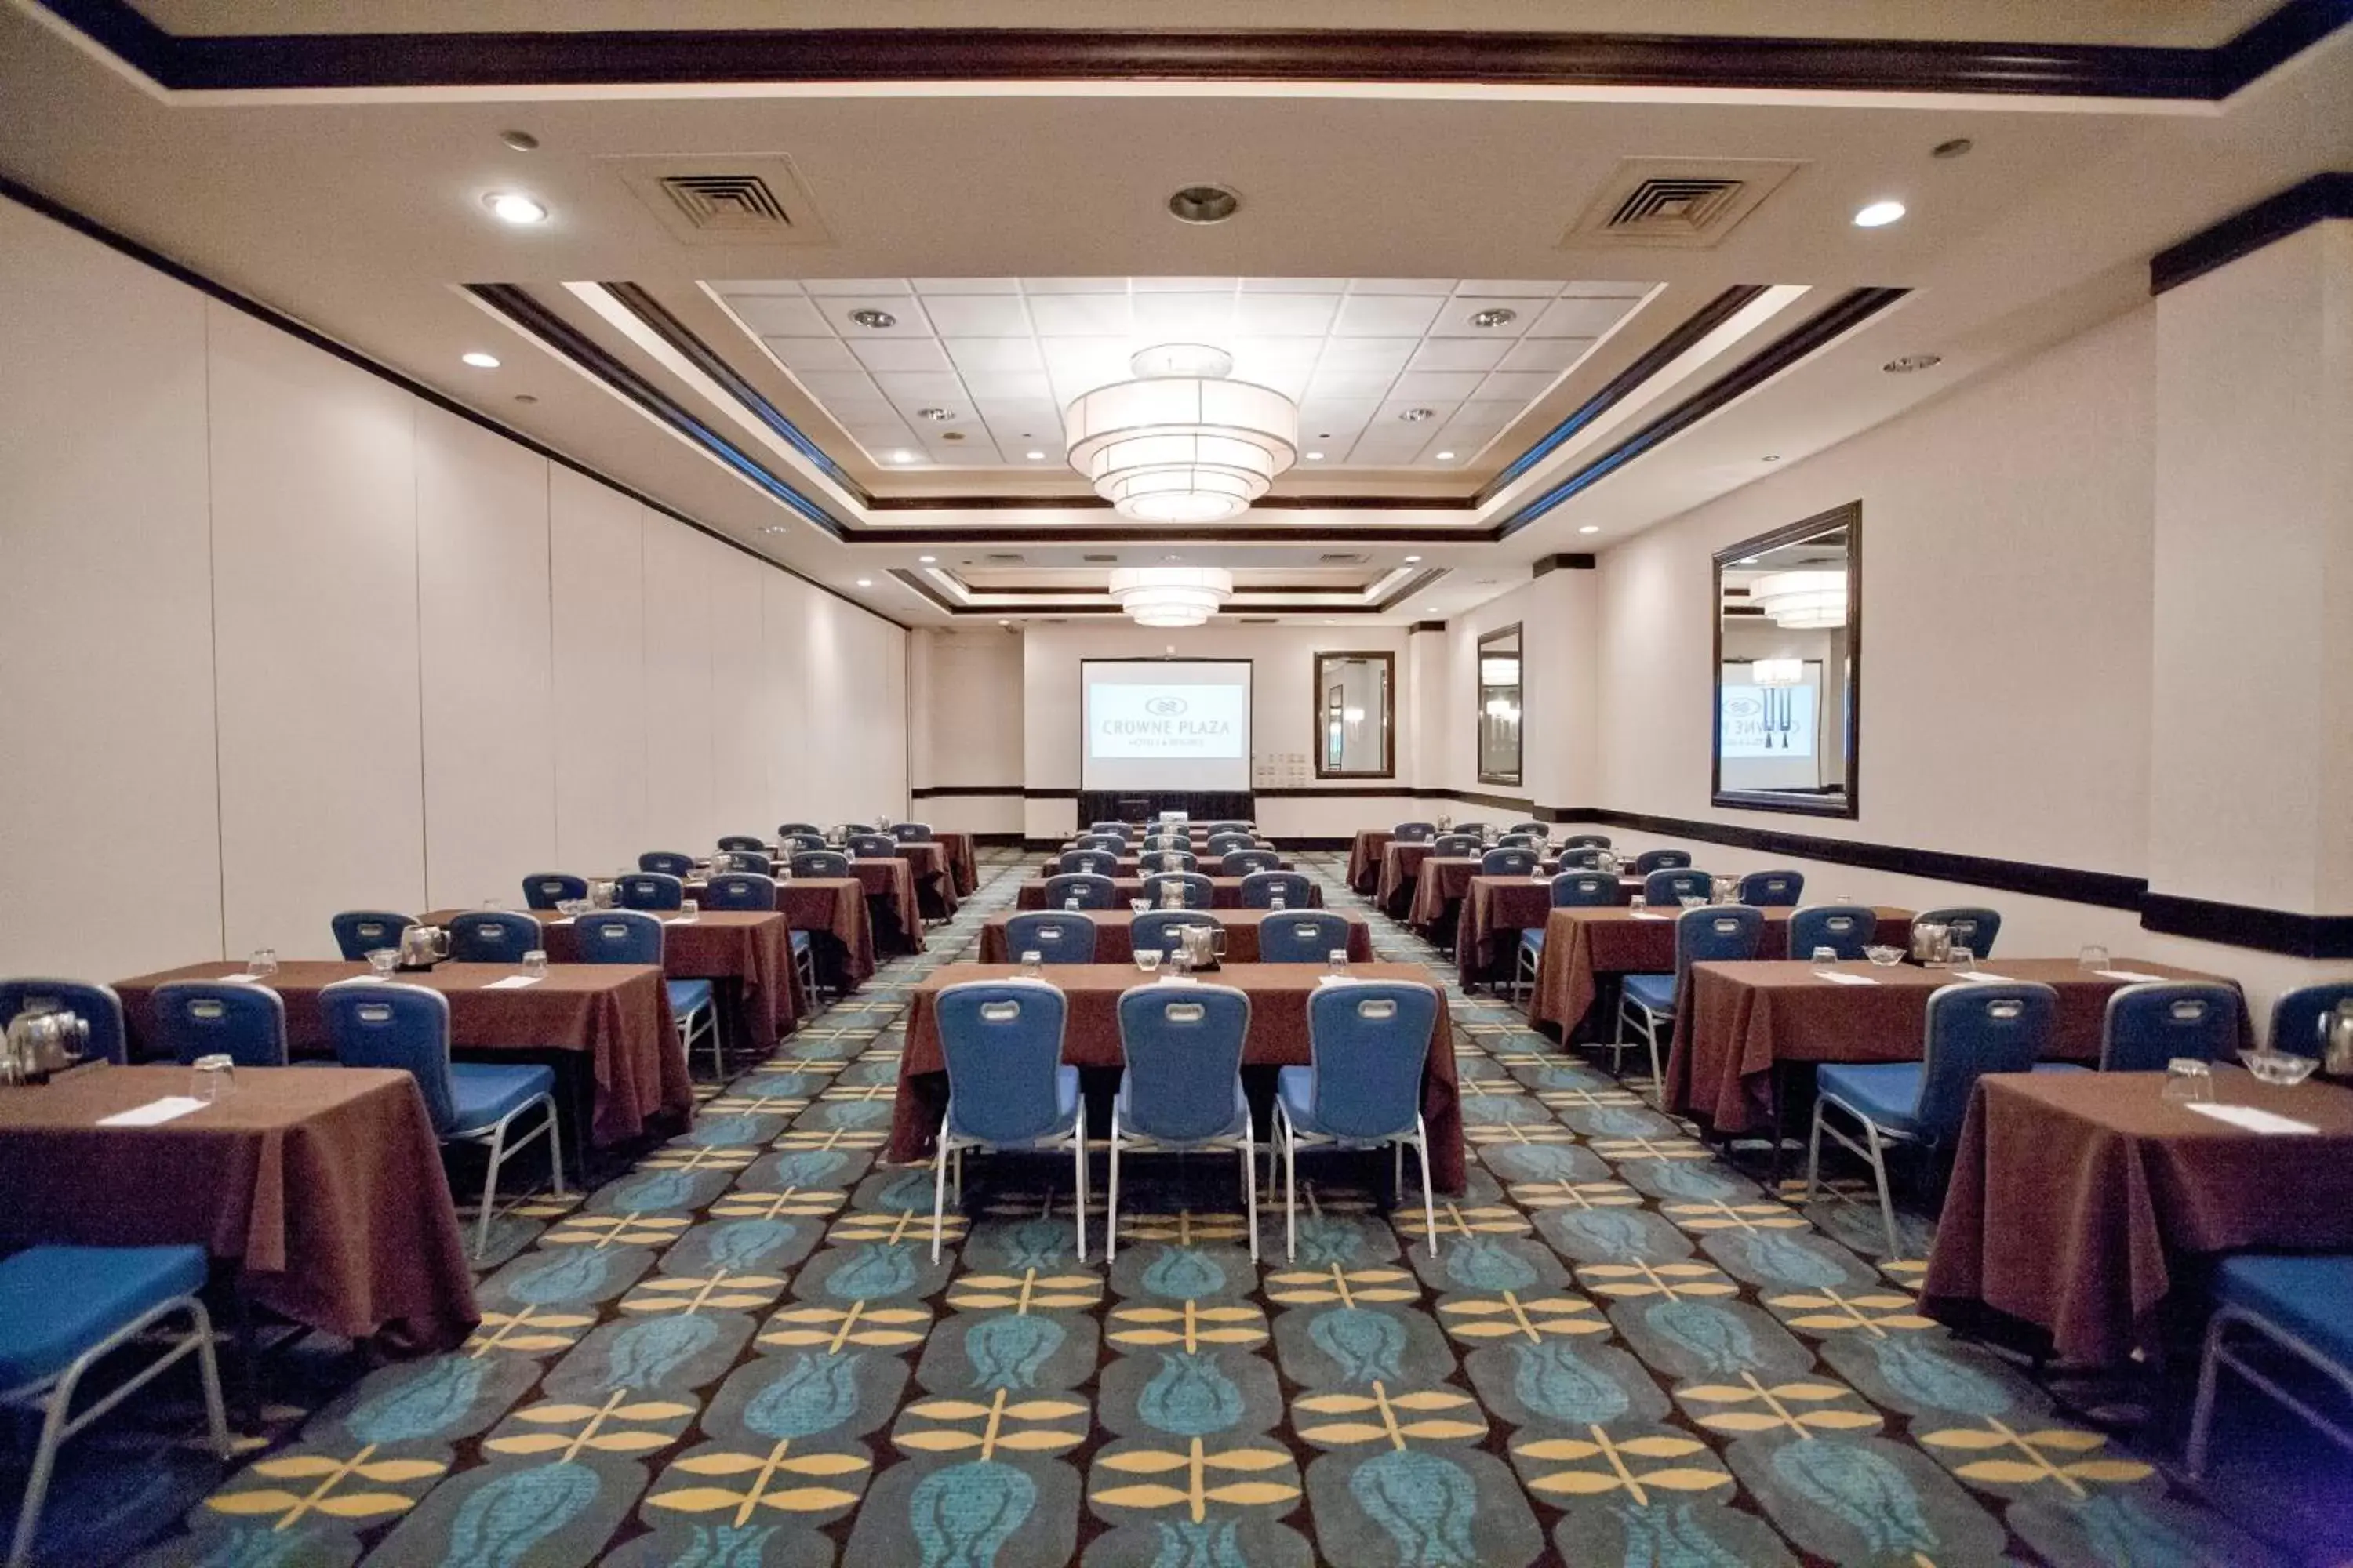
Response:
[[[1868,1204],[1784,1204],[1379,914],[1379,954],[1454,1009],[1473,1161],[1438,1262],[1386,1159],[1325,1154],[1297,1262],[1271,1208],[1252,1267],[1231,1157],[1136,1159],[1108,1269],[1099,1227],[1073,1255],[1066,1159],[974,1157],[932,1265],[929,1168],[875,1159],[904,994],[1024,863],[988,856],[925,957],[689,1135],[506,1220],[464,1352],[353,1382],[296,1347],[226,1481],[188,1446],[155,1462],[153,1429],[85,1439],[56,1561],[2282,1561],[1915,1316],[1918,1255],[1875,1255]]]

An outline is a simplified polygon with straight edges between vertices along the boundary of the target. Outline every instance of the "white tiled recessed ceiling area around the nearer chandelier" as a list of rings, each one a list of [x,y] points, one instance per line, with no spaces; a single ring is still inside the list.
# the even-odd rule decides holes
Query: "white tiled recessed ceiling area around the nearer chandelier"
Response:
[[[1320,473],[1471,463],[1649,282],[812,277],[704,284],[882,468],[1059,470],[1061,411],[1136,350],[1209,343],[1299,402]],[[1445,456],[1440,456],[1445,454]]]

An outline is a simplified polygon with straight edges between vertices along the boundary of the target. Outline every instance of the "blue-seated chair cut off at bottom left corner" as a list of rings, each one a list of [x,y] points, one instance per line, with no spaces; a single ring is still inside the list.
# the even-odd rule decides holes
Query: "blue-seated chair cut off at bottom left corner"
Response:
[[[205,1387],[212,1453],[224,1462],[233,1458],[221,1368],[212,1356],[212,1316],[198,1300],[207,1269],[200,1246],[28,1246],[0,1260],[0,1408],[40,1415],[9,1568],[33,1563],[40,1509],[49,1500],[49,1476],[66,1439],[184,1356],[195,1356]],[[82,1375],[176,1312],[188,1314],[188,1333],[174,1335],[162,1356],[75,1415],[73,1394]]]

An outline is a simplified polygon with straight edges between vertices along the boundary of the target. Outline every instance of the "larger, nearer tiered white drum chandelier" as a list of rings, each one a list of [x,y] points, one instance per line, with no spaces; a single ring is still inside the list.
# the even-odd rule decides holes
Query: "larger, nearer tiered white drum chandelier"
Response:
[[[1160,343],[1127,364],[1134,381],[1085,393],[1061,416],[1071,468],[1122,517],[1240,517],[1299,458],[1299,404],[1228,381],[1224,348]]]

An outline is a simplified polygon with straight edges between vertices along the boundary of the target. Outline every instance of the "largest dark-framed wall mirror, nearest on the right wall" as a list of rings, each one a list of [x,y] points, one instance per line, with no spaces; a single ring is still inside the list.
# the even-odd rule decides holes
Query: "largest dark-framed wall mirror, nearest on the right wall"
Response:
[[[1854,816],[1864,503],[1715,552],[1713,804]]]

